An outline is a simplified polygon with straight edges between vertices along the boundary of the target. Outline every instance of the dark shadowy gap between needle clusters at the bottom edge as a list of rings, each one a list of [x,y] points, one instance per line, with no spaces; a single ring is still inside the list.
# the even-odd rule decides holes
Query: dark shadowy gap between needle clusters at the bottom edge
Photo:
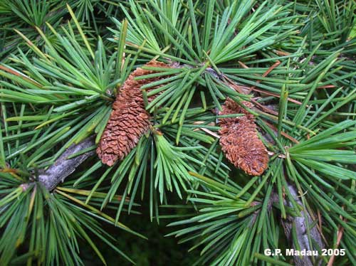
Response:
[[[172,202],[182,204],[183,202],[179,198],[173,198]],[[126,255],[136,262],[136,265],[193,265],[194,261],[199,259],[200,250],[192,250],[188,252],[189,248],[192,248],[192,241],[188,243],[178,244],[178,241],[182,238],[174,238],[174,236],[164,237],[174,230],[179,230],[182,226],[167,227],[166,225],[176,221],[177,219],[159,219],[159,225],[154,219],[151,223],[150,213],[148,213],[150,207],[148,202],[140,202],[141,206],[135,208],[135,211],[140,211],[142,214],[130,214],[122,213],[120,215],[120,222],[135,230],[135,232],[145,235],[148,240],[142,239],[136,235],[115,228],[113,225],[107,226],[105,230],[112,236],[117,236],[117,248],[120,248]],[[164,213],[164,208],[160,208],[160,212]],[[167,212],[168,211],[168,212]],[[174,208],[167,208],[167,213],[173,214]],[[175,212],[187,213],[187,209],[177,209]],[[189,213],[191,210],[189,210]],[[112,216],[115,217],[115,214]],[[93,237],[95,239],[95,237]],[[95,241],[102,243],[100,241]],[[95,254],[92,248],[84,242],[80,245],[80,256],[83,256],[83,262],[85,265],[103,265],[98,256]],[[105,243],[98,245],[100,252],[102,252],[106,262],[111,265],[132,265],[124,257],[120,256],[112,250]]]

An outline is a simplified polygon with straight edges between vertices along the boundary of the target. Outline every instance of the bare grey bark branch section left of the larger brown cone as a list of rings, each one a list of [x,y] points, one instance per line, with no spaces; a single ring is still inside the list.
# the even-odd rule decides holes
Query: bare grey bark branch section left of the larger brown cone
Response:
[[[48,191],[52,191],[58,186],[58,183],[63,182],[67,176],[72,174],[73,171],[75,171],[83,161],[88,159],[88,157],[92,156],[95,151],[87,151],[84,154],[80,154],[71,159],[68,159],[68,156],[83,151],[83,149],[87,149],[93,145],[95,145],[93,137],[84,139],[83,142],[80,142],[79,144],[70,145],[70,147],[58,157],[53,165],[48,167],[42,174],[39,174],[38,181],[40,181]]]

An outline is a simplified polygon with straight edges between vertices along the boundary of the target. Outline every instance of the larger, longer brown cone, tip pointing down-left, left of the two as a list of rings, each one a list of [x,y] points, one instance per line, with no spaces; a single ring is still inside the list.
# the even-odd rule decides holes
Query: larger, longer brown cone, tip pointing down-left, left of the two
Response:
[[[150,61],[145,66],[169,68],[169,65],[155,60]],[[140,87],[162,78],[144,80],[134,80],[134,78],[152,73],[155,73],[155,71],[137,68],[120,87],[116,100],[112,105],[110,119],[96,149],[103,164],[112,166],[118,159],[124,159],[136,146],[142,134],[148,131],[150,115],[145,110]],[[150,90],[155,88],[157,87],[152,87]],[[153,100],[153,98],[150,97],[148,100]]]

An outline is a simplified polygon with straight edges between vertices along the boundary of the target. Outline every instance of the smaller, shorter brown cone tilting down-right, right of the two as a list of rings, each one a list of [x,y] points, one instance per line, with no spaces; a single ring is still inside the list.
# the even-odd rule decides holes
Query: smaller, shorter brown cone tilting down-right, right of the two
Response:
[[[251,102],[242,102],[253,107]],[[247,174],[260,176],[268,166],[267,149],[258,138],[253,115],[240,107],[234,100],[226,99],[219,115],[244,114],[243,117],[221,118],[220,145],[225,156],[236,167]]]

